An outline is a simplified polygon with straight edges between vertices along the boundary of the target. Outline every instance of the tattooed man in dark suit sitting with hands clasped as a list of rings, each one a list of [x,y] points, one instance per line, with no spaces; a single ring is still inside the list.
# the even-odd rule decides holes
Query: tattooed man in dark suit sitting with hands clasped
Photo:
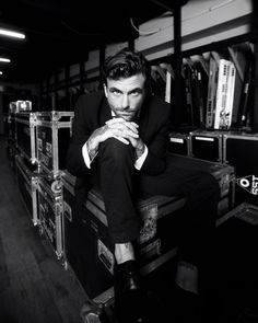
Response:
[[[210,174],[171,163],[171,105],[151,95],[150,66],[141,54],[125,48],[108,57],[103,83],[104,92],[78,100],[67,168],[78,176],[79,188],[94,185],[103,195],[117,263],[115,298],[140,289],[134,201],[152,195],[188,197],[175,280],[198,293],[199,261],[214,228],[219,185]]]

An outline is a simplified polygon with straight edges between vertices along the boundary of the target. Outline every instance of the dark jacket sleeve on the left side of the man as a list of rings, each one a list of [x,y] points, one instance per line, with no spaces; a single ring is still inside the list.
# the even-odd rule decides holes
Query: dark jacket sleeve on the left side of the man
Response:
[[[91,136],[85,118],[86,102],[85,95],[81,95],[77,102],[66,160],[67,170],[74,176],[85,176],[90,172],[82,155],[82,147]]]

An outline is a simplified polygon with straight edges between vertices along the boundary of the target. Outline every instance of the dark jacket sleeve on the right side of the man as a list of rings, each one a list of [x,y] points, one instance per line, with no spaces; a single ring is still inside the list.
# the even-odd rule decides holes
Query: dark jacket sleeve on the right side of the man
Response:
[[[168,145],[168,132],[171,126],[171,106],[164,104],[160,106],[160,114],[156,118],[152,118],[155,122],[152,137],[145,142],[149,152],[146,159],[140,170],[140,172],[148,175],[157,175],[165,171],[166,168],[166,152]]]

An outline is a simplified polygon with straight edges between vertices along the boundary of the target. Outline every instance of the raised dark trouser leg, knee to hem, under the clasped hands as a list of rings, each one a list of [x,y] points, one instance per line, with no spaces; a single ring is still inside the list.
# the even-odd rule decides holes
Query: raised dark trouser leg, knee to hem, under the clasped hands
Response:
[[[132,201],[133,149],[117,139],[108,139],[99,146],[97,163],[110,239],[116,244],[133,241],[139,234],[139,220]]]

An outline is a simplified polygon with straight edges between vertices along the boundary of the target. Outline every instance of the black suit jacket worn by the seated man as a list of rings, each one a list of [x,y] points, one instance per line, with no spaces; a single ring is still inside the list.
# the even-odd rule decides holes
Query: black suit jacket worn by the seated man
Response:
[[[92,132],[112,118],[110,107],[103,91],[82,94],[75,106],[72,138],[67,154],[67,169],[78,177],[75,187],[89,187],[87,169],[82,155],[82,147]],[[155,175],[165,170],[165,154],[168,142],[171,105],[153,95],[145,97],[139,117],[139,135],[149,149],[148,157],[140,170]],[[93,162],[94,163],[94,162]]]

